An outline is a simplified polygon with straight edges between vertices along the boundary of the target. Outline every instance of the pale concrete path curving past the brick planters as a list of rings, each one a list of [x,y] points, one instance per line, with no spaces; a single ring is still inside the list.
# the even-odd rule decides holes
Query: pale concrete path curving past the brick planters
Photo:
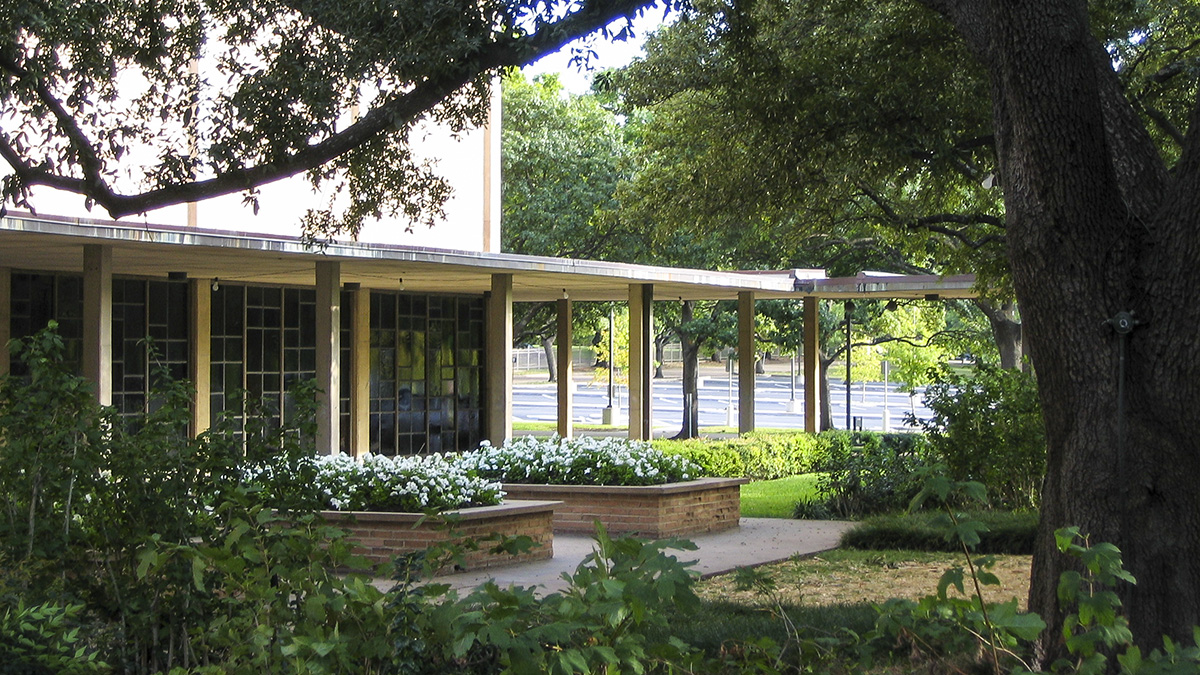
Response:
[[[836,548],[841,533],[853,526],[853,522],[839,520],[743,518],[742,526],[734,530],[688,537],[697,545],[695,551],[667,552],[683,561],[697,561],[692,569],[707,578],[739,567],[755,567]],[[539,586],[544,592],[560,591],[565,587],[563,573],[574,572],[592,548],[589,536],[556,533],[554,557],[551,560],[460,572],[440,577],[438,581],[462,590],[494,579],[500,586]]]

